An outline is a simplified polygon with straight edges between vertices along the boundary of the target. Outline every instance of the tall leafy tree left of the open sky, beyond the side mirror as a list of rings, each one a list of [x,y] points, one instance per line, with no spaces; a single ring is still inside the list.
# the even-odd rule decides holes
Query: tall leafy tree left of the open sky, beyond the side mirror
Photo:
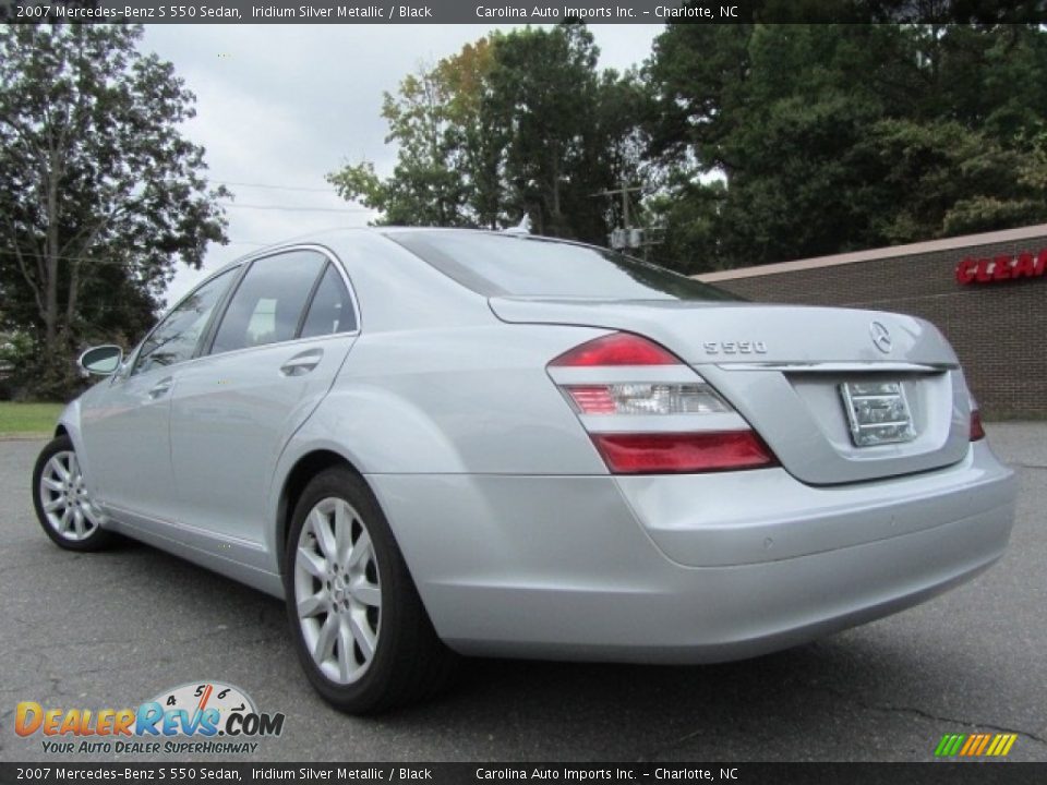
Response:
[[[39,395],[70,385],[71,350],[133,336],[178,259],[200,267],[226,221],[204,149],[179,124],[194,96],[136,49],[141,26],[0,28],[0,293],[29,331]]]

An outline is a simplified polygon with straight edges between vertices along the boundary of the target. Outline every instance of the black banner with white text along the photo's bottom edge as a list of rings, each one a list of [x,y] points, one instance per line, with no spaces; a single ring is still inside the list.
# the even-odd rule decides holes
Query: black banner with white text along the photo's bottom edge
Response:
[[[1042,783],[1045,763],[0,763],[2,783]]]

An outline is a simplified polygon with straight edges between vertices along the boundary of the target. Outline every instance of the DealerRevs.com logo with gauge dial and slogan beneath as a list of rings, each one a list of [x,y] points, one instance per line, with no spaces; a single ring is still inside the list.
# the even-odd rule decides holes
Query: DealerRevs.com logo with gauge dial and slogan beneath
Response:
[[[14,730],[40,737],[45,752],[250,753],[284,732],[282,713],[260,712],[246,692],[220,681],[165,690],[137,709],[45,708],[22,701]]]

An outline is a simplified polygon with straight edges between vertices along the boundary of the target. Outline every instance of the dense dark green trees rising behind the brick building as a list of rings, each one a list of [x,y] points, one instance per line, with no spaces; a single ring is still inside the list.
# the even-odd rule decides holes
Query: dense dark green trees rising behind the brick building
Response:
[[[1037,27],[669,25],[646,75],[681,269],[1047,220]]]

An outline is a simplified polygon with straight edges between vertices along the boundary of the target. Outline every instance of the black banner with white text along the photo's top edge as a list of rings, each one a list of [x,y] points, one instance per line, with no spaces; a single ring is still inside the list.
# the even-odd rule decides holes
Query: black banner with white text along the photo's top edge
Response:
[[[0,0],[13,23],[1044,23],[1047,0]]]

